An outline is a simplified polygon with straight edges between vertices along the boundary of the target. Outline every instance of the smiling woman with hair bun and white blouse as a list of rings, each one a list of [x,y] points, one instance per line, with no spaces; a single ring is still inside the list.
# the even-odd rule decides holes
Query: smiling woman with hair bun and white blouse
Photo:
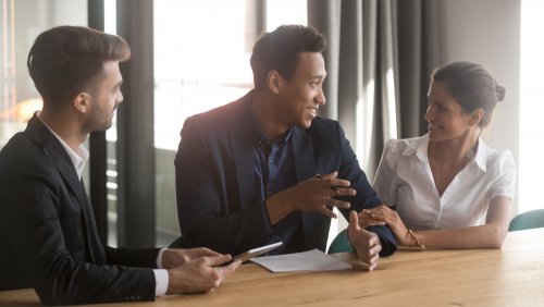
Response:
[[[434,70],[429,133],[386,143],[374,188],[392,207],[364,210],[363,226],[388,224],[400,245],[420,249],[500,248],[508,232],[516,165],[481,138],[505,88],[481,65]]]

